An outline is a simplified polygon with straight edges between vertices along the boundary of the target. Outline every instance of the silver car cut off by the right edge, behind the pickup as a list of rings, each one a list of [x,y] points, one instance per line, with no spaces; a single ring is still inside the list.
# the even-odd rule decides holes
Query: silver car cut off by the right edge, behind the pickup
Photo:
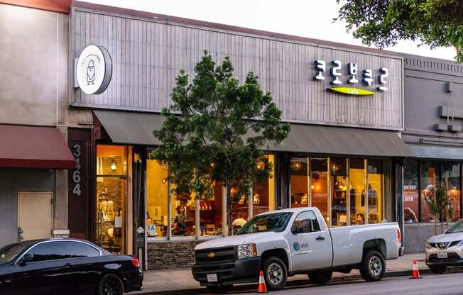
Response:
[[[447,267],[463,265],[463,219],[442,235],[435,235],[426,242],[426,265],[432,273],[442,274]]]

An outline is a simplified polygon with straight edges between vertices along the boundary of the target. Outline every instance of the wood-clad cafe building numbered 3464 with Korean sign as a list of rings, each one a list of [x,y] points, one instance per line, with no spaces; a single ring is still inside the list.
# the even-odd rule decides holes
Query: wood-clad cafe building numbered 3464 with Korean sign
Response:
[[[191,265],[197,243],[233,234],[222,184],[212,199],[175,196],[166,167],[149,157],[175,77],[180,69],[192,77],[204,50],[217,62],[231,57],[241,81],[255,72],[291,123],[283,143],[262,147],[272,177],[250,196],[232,191],[234,230],[278,207],[317,206],[330,226],[399,221],[403,159],[413,155],[400,138],[403,57],[77,1],[69,43],[71,65],[90,67],[77,62],[90,45],[106,48],[112,65],[99,95],[72,79],[70,112],[93,117],[68,138],[79,151],[68,175],[72,237],[156,269]]]

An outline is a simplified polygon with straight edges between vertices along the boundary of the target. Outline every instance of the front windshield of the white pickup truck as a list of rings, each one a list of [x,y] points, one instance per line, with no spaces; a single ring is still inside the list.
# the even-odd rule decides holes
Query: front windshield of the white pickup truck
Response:
[[[288,221],[293,213],[272,213],[261,216],[255,216],[250,221],[238,230],[236,235],[244,235],[246,233],[262,233],[265,231],[273,231],[279,233],[285,230]]]

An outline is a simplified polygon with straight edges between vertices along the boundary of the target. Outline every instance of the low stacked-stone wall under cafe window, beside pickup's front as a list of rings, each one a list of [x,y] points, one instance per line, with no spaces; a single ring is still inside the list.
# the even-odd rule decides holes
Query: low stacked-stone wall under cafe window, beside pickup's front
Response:
[[[204,240],[148,242],[148,269],[190,267],[194,250]]]

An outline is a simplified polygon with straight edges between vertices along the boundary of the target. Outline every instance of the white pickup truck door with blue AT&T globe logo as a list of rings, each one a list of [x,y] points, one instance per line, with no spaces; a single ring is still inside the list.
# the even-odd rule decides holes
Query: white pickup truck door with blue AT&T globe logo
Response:
[[[289,243],[293,271],[331,267],[329,232],[325,226],[320,228],[313,211],[299,213],[291,226]]]

